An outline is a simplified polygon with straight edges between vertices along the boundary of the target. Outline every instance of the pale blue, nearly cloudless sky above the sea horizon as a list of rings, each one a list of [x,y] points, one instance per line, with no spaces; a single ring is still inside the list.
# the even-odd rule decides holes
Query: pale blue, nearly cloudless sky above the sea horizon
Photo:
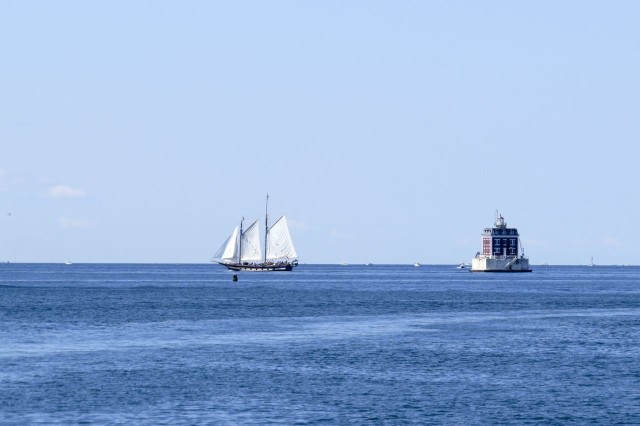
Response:
[[[636,1],[3,1],[0,261],[640,264]]]

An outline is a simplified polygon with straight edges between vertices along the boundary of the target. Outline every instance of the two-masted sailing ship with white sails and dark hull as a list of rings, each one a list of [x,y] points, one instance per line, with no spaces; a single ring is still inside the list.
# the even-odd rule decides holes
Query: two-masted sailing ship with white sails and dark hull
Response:
[[[260,248],[258,220],[243,229],[243,218],[212,260],[232,271],[291,271],[298,266],[298,254],[291,240],[287,218],[281,216],[269,227],[268,207],[269,195],[264,218],[264,257]]]

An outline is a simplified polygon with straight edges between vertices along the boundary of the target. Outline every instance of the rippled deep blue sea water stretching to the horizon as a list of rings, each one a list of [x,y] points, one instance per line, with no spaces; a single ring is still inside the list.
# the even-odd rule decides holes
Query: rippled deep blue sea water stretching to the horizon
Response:
[[[640,268],[0,265],[0,424],[640,424]]]

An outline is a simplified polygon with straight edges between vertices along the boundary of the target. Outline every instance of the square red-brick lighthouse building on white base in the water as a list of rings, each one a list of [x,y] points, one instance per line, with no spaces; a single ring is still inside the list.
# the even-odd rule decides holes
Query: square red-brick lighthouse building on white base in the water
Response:
[[[471,260],[471,272],[531,272],[529,259],[521,249],[520,235],[516,228],[507,228],[504,218],[496,211],[493,228],[485,228],[482,236],[482,253]]]

